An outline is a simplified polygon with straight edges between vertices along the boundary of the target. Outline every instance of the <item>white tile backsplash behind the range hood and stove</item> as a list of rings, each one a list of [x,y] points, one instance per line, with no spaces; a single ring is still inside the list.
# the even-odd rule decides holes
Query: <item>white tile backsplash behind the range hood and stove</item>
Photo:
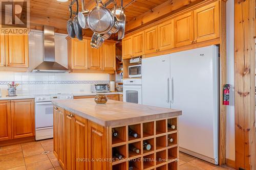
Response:
[[[55,61],[68,65],[67,35],[55,34]],[[91,83],[108,83],[109,74],[90,73],[32,73],[43,61],[43,34],[31,31],[29,34],[29,69],[28,72],[0,72],[0,88],[2,96],[8,94],[7,84],[15,81],[17,95],[49,94],[49,93],[89,93]]]

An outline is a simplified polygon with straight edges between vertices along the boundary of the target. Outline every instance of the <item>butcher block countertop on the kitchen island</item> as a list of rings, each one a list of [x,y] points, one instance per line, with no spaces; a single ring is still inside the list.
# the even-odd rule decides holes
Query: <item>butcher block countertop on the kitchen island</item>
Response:
[[[181,115],[181,110],[109,100],[96,104],[94,99],[56,100],[52,103],[101,126],[118,126]]]

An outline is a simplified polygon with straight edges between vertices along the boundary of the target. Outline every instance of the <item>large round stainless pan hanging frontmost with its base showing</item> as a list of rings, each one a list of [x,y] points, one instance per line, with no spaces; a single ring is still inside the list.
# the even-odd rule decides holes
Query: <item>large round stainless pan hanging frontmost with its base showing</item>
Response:
[[[88,15],[89,28],[95,33],[105,34],[112,29],[114,24],[115,18],[112,12],[103,6],[101,0],[98,0],[96,7]]]

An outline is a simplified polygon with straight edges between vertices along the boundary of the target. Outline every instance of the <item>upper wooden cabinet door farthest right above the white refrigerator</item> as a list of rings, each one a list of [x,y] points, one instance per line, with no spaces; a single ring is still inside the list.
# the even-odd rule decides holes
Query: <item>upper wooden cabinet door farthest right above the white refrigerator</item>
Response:
[[[194,11],[195,42],[202,42],[220,37],[219,1],[203,6]]]

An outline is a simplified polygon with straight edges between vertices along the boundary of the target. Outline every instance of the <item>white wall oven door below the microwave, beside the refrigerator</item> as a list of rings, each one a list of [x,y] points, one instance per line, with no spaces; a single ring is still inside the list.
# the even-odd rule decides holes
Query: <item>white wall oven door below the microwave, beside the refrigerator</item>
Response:
[[[141,85],[123,85],[123,102],[142,104]]]

